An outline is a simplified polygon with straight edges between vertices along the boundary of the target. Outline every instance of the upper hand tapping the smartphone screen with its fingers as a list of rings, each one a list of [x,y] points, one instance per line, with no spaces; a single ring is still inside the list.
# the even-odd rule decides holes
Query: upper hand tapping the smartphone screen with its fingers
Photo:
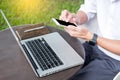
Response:
[[[83,11],[78,11],[76,14],[71,13],[68,10],[63,10],[59,17],[60,20],[71,22],[76,25],[81,25],[87,22],[87,15]]]

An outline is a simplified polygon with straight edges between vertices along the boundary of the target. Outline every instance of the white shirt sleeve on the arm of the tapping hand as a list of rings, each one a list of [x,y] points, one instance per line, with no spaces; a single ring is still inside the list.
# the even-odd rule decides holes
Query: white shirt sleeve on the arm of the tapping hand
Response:
[[[87,14],[88,21],[96,14],[96,0],[85,0],[78,11],[83,11]]]

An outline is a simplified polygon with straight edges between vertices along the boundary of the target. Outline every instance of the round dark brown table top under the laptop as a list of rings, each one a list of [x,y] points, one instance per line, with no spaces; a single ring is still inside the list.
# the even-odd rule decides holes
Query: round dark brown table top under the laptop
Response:
[[[52,32],[59,32],[78,54],[84,57],[84,49],[78,39],[70,37],[62,30],[53,27],[48,28]],[[0,80],[67,80],[79,68],[80,66],[38,78],[27,62],[11,31],[7,29],[0,32]]]

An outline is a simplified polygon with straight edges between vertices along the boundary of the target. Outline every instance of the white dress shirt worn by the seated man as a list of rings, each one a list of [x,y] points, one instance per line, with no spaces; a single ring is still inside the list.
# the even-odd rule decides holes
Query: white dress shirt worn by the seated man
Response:
[[[120,40],[120,0],[85,0],[80,10],[84,11],[88,20],[97,13],[98,25],[103,37]],[[108,56],[119,60],[120,55],[109,52],[98,46]]]

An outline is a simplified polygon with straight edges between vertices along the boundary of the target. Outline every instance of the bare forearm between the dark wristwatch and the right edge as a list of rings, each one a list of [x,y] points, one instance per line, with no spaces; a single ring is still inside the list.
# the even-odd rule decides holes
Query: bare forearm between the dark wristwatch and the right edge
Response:
[[[110,52],[120,55],[120,40],[98,37],[97,44]]]

